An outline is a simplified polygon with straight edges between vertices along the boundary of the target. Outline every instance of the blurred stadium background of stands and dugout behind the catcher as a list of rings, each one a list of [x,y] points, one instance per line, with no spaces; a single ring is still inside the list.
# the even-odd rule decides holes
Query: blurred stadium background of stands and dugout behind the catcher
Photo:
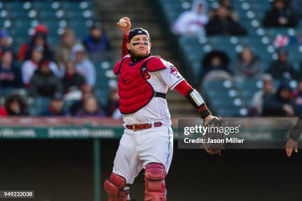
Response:
[[[113,67],[122,43],[115,23],[124,16],[149,31],[152,54],[173,63],[214,115],[302,115],[302,0],[1,0],[0,190],[36,190],[39,201],[106,200],[102,183],[122,134]],[[197,117],[177,92],[167,101],[174,128]],[[223,201],[301,193],[299,155],[232,150],[209,158],[174,147],[170,200],[213,199],[217,189]],[[131,194],[142,200],[143,191],[140,174]]]

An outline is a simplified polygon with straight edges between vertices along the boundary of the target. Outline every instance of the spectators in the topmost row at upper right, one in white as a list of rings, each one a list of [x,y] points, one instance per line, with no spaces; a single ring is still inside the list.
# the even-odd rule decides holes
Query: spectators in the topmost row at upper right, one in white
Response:
[[[264,27],[296,27],[302,13],[301,0],[273,0],[263,19]],[[191,10],[184,11],[172,26],[178,35],[246,35],[231,0],[220,0],[209,10],[206,0],[194,0]]]

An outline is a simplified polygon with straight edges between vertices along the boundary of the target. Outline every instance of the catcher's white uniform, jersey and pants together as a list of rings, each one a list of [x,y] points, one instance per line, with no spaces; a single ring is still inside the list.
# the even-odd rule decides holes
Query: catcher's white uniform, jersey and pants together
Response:
[[[127,56],[126,56],[127,57]],[[177,69],[169,62],[167,68],[155,72],[145,72],[143,76],[155,92],[167,93],[184,80]],[[166,173],[173,156],[173,131],[167,101],[153,97],[143,108],[132,114],[124,114],[124,126],[135,123],[161,122],[161,127],[139,131],[125,128],[114,159],[113,172],[132,184],[142,168],[149,163],[160,163]]]

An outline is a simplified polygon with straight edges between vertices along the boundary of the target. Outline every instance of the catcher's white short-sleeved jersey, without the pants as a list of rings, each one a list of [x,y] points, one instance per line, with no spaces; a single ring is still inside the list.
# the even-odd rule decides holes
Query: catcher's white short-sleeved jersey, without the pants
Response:
[[[155,72],[149,72],[147,82],[149,82],[155,92],[167,93],[168,88],[174,89],[184,80],[173,64],[167,62],[167,68]],[[124,114],[125,124],[149,123],[161,121],[167,126],[171,126],[170,113],[167,101],[163,98],[153,97],[143,108],[132,114]]]

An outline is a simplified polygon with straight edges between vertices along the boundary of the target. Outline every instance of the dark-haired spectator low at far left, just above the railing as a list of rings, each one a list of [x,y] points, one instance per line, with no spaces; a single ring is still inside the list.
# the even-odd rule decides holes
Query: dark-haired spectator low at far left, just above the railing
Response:
[[[27,103],[20,94],[10,94],[5,100],[5,109],[8,116],[27,116]]]

